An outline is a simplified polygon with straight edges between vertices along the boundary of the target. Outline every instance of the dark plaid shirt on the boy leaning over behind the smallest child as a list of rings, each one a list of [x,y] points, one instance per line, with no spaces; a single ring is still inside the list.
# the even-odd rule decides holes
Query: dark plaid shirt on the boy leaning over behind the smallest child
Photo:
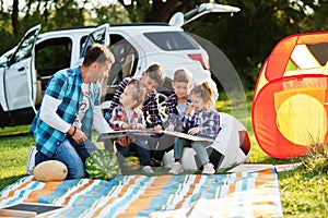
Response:
[[[109,120],[110,120],[110,117],[113,113],[113,109],[119,105],[119,96],[124,93],[125,88],[127,87],[127,85],[131,78],[132,77],[126,77],[125,80],[122,80],[119,83],[119,85],[114,94],[114,97],[112,99],[112,104],[109,106],[108,112],[105,116],[105,119],[107,120],[108,123],[109,123]],[[161,118],[160,111],[159,111],[156,90],[154,90],[152,93],[148,93],[145,95],[145,98],[144,98],[144,101],[142,105],[142,112],[143,112],[144,118],[147,118],[148,114],[151,117],[153,126],[155,126],[157,124],[162,125],[162,118]]]

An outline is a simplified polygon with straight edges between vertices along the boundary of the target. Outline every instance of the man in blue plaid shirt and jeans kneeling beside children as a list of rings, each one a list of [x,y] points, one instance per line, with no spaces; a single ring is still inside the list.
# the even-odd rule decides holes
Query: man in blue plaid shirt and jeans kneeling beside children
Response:
[[[110,51],[93,45],[82,65],[54,74],[32,126],[36,137],[35,166],[58,160],[68,168],[68,179],[85,177],[84,162],[97,149],[92,143],[92,124],[98,132],[112,129],[101,110],[98,81],[114,63]]]

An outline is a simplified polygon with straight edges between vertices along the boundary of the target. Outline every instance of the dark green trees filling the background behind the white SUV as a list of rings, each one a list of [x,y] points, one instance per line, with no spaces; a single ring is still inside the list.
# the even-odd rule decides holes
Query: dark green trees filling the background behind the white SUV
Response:
[[[3,1],[0,1],[0,3]],[[16,2],[16,1],[15,1]],[[20,13],[14,32],[13,8],[0,4],[0,33],[4,46],[0,53],[15,45],[30,27],[43,24],[43,31],[81,25],[98,25],[104,22],[139,23],[168,22],[177,11],[187,12],[209,0],[118,0],[105,4],[99,1],[25,0],[20,1]],[[297,33],[318,32],[328,28],[327,0],[212,0],[241,8],[233,17],[230,14],[207,15],[184,28],[201,36],[230,59],[238,72],[244,87],[253,89],[261,63],[282,38]],[[14,34],[15,33],[15,34]],[[13,37],[11,37],[12,35]],[[210,61],[218,62],[216,57]],[[212,65],[211,64],[211,65]]]

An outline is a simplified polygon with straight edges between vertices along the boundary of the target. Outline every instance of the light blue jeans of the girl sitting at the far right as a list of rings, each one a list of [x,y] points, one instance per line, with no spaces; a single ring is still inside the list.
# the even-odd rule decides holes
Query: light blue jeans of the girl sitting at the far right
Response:
[[[174,143],[174,158],[181,159],[184,154],[184,147],[192,147],[197,153],[201,165],[210,161],[206,147],[209,145],[207,142],[192,142],[185,138],[176,138]]]

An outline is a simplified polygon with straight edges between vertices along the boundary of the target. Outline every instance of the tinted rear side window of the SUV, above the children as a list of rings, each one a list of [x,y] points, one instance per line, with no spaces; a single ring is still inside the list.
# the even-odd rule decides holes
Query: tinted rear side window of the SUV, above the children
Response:
[[[199,49],[198,45],[184,32],[155,32],[143,35],[166,51]]]

